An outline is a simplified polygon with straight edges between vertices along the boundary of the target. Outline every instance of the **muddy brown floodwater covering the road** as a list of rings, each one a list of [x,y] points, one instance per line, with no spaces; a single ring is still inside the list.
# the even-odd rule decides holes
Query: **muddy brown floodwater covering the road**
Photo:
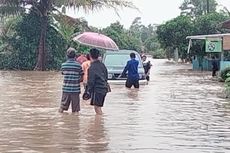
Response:
[[[79,116],[57,112],[58,72],[2,71],[0,152],[230,152],[230,102],[210,75],[154,60],[149,85],[111,85],[99,117],[83,101]]]

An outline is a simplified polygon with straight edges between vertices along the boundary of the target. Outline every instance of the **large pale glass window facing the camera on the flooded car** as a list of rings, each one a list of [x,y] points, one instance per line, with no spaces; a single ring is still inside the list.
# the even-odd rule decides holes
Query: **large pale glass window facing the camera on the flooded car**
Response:
[[[139,67],[141,67],[142,64],[140,58],[137,56],[136,59],[139,61]],[[106,66],[124,67],[128,60],[130,60],[130,56],[128,54],[108,54],[105,55],[104,64]]]

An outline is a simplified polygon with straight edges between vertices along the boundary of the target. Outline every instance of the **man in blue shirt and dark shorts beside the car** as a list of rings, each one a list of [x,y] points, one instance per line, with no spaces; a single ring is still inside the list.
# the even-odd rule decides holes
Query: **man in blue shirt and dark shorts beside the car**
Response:
[[[125,86],[127,88],[131,88],[132,86],[134,86],[134,88],[139,88],[139,74],[138,74],[139,61],[135,59],[136,58],[135,53],[131,53],[130,58],[131,60],[127,62],[121,76],[125,77],[126,72],[128,71],[128,77]]]

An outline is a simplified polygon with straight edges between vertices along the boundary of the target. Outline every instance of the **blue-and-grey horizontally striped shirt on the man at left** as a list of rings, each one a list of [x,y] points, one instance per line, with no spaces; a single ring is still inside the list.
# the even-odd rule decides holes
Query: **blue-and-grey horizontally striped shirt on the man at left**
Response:
[[[81,65],[74,59],[68,59],[61,67],[64,75],[62,90],[67,93],[80,93],[80,79],[83,75]]]

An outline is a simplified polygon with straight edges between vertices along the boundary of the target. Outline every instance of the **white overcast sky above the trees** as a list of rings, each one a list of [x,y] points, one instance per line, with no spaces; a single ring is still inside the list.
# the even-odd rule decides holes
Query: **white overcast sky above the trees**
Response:
[[[89,25],[103,28],[111,23],[119,21],[128,28],[135,17],[141,17],[142,23],[161,24],[180,14],[179,6],[183,0],[131,0],[140,10],[120,9],[120,17],[112,9],[103,9],[97,12],[85,14],[82,11],[68,11],[67,14],[72,17],[84,17]],[[217,0],[218,4],[226,6],[230,10],[229,0]]]

